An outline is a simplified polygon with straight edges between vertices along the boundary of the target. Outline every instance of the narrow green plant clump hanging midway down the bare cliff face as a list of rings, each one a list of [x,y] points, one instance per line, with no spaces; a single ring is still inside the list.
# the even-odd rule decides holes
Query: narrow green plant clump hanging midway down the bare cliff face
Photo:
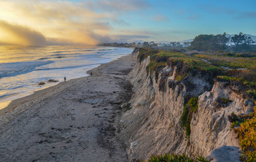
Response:
[[[192,97],[183,107],[183,113],[181,115],[181,126],[185,127],[186,137],[189,139],[191,128],[190,122],[193,113],[198,110],[198,97]]]

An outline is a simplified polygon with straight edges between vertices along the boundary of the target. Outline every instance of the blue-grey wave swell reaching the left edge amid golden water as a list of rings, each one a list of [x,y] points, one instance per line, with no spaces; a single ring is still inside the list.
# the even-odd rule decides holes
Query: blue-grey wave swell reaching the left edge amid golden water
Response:
[[[26,74],[35,70],[41,65],[47,65],[54,61],[30,61],[30,62],[14,62],[14,63],[0,63],[0,78],[7,76],[18,76]]]

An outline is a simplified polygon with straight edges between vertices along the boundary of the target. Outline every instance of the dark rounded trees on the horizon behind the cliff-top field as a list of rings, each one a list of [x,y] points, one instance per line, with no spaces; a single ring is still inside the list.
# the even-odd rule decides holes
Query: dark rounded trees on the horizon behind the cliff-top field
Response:
[[[191,42],[189,49],[198,51],[224,51],[227,45],[232,45],[234,51],[246,51],[251,49],[250,44],[255,43],[250,36],[246,36],[240,32],[232,37],[223,34],[200,34]]]

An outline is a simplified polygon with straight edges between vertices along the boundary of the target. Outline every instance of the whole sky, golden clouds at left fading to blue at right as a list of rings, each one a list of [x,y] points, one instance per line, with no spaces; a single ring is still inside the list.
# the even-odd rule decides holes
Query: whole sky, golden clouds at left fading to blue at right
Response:
[[[184,41],[256,35],[255,0],[0,0],[0,45]]]

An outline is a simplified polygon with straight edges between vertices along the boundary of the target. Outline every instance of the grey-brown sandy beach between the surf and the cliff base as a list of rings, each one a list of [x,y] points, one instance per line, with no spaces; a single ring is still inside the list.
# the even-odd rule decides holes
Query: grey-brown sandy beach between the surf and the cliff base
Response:
[[[127,55],[12,101],[0,110],[0,161],[128,161],[116,134],[134,64]]]

